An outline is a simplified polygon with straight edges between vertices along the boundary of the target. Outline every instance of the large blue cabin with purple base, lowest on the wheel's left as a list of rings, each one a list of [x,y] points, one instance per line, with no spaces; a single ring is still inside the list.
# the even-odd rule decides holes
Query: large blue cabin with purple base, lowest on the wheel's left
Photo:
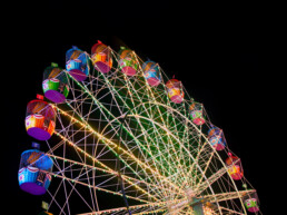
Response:
[[[21,154],[18,182],[22,190],[32,195],[43,195],[51,183],[52,159],[38,149]]]

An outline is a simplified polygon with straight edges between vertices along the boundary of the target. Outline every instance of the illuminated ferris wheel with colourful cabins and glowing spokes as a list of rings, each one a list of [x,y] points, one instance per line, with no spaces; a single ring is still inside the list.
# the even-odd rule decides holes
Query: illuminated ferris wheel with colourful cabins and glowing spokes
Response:
[[[261,214],[222,129],[157,62],[72,47],[27,106],[19,185],[53,214]]]

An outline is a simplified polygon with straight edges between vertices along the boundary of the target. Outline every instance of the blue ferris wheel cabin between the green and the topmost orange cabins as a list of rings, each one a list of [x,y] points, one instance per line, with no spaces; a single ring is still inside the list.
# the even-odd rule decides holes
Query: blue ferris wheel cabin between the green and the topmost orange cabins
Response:
[[[76,80],[85,80],[89,75],[88,55],[72,47],[66,52],[66,69]]]

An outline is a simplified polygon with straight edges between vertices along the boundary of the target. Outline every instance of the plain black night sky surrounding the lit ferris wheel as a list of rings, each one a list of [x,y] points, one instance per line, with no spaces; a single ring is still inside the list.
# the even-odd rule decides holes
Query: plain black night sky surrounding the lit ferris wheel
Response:
[[[241,158],[264,214],[285,211],[286,77],[278,69],[277,8],[180,1],[38,1],[7,6],[2,74],[2,211],[37,214],[41,199],[20,190],[20,155],[33,140],[26,134],[26,105],[41,94],[50,62],[65,67],[71,46],[87,52],[97,40],[126,45],[159,62],[202,102]],[[9,12],[8,12],[9,13]],[[277,17],[278,16],[278,17]],[[276,18],[275,18],[276,17]],[[280,49],[280,48],[279,48]],[[4,80],[3,80],[4,79]]]

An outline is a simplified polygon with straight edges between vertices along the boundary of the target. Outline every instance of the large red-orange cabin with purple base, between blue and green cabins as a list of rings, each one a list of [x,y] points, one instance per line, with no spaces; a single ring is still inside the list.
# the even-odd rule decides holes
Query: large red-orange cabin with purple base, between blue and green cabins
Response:
[[[24,123],[28,135],[38,140],[48,140],[55,131],[55,109],[43,100],[31,100],[27,105]]]

